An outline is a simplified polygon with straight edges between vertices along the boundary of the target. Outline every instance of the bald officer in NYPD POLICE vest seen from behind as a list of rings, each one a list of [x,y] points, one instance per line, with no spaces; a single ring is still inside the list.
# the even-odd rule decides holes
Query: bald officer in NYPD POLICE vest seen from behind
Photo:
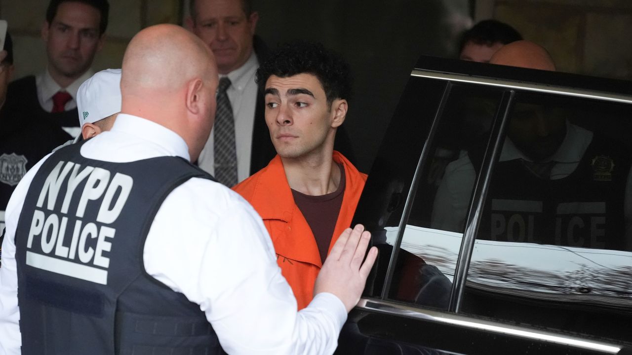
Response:
[[[334,352],[377,257],[363,262],[370,233],[343,232],[297,312],[255,210],[191,164],[218,81],[179,26],[131,40],[112,129],[40,160],[11,196],[0,354]]]

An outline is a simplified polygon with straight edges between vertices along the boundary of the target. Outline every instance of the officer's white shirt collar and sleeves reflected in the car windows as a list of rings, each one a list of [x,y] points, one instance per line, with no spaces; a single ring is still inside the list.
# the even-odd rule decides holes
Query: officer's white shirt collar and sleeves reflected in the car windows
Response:
[[[592,141],[593,133],[567,121],[566,136],[557,151],[546,162],[556,162],[550,173],[550,179],[562,179],[569,176],[579,165],[586,148]],[[514,143],[505,139],[500,161],[523,159],[532,162]],[[446,231],[463,231],[466,214],[476,181],[476,171],[470,157],[461,152],[459,159],[447,164],[432,208],[430,226]],[[626,234],[632,233],[632,174],[628,174],[626,184],[624,214],[626,216]],[[630,240],[631,238],[628,238]]]

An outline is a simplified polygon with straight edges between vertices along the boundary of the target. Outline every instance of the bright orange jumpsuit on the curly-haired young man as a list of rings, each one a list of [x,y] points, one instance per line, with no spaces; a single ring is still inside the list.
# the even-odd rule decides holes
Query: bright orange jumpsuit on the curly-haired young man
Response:
[[[334,151],[334,161],[343,164],[346,188],[343,203],[329,244],[329,251],[345,228],[351,224],[367,175],[359,172],[341,153]],[[250,178],[233,186],[255,208],[270,233],[277,263],[288,280],[301,310],[312,301],[313,287],[322,267],[312,229],[296,206],[283,162],[277,155]]]

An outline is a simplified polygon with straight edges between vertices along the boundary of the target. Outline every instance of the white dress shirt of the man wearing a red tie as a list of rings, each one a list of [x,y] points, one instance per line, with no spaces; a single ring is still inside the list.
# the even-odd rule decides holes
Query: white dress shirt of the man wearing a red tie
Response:
[[[70,96],[72,97],[72,99],[66,102],[66,105],[64,105],[64,109],[66,111],[74,109],[75,107],[77,107],[77,91],[79,90],[79,87],[83,84],[83,81],[88,80],[88,78],[90,78],[90,76],[92,75],[94,75],[94,71],[88,70],[83,73],[82,76],[73,81],[73,83],[68,85],[68,87],[63,88],[60,87],[57,81],[52,78],[51,73],[49,73],[48,70],[45,70],[44,73],[35,76],[37,100],[39,101],[40,106],[42,106],[42,109],[44,109],[44,111],[51,112],[53,106],[52,96],[59,92],[59,90],[62,90],[70,93]],[[78,119],[79,117],[77,116],[77,120]],[[66,133],[73,137],[81,132],[81,128],[78,126],[62,128],[64,129],[64,131],[66,131]]]

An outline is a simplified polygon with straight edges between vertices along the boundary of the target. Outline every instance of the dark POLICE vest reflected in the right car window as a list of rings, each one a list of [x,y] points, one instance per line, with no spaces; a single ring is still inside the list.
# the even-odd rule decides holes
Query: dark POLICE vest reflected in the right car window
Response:
[[[478,238],[623,250],[629,168],[621,149],[597,140],[562,179],[537,178],[520,160],[498,162]]]

